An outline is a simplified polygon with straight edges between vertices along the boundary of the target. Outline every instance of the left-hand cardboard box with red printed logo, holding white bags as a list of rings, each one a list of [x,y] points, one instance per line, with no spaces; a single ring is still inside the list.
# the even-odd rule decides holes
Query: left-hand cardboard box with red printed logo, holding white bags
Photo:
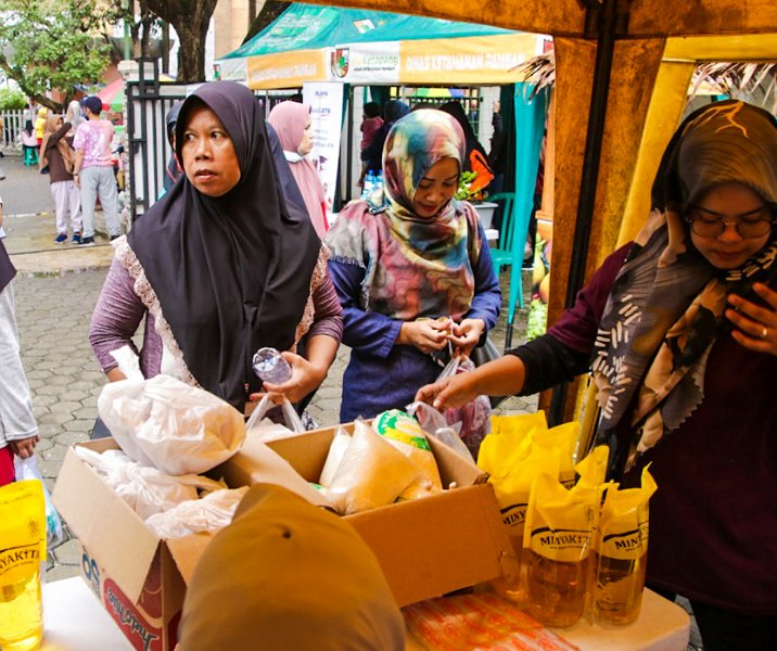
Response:
[[[118,448],[113,438],[74,447],[78,446],[97,452]],[[310,499],[319,496],[271,450],[266,449],[257,463],[267,481]],[[132,647],[173,651],[186,585],[214,534],[161,539],[73,448],[52,499],[80,541],[81,576]]]

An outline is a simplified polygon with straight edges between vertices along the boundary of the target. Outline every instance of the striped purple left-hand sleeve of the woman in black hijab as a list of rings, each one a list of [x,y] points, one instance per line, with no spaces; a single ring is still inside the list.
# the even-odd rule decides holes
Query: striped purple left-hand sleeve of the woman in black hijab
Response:
[[[128,345],[138,353],[132,335],[145,315],[145,306],[135,293],[133,285],[127,270],[114,258],[89,329],[89,343],[105,372],[117,366],[111,350]]]

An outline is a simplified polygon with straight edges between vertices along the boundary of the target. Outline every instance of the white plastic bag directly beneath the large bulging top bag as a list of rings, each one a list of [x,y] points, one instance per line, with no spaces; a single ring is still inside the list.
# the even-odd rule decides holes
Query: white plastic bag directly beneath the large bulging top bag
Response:
[[[74,448],[79,458],[105,477],[129,507],[145,520],[154,513],[168,511],[179,503],[198,499],[200,490],[226,488],[216,482],[195,474],[167,475],[155,468],[140,465],[122,450],[105,450],[102,455],[84,447]]]

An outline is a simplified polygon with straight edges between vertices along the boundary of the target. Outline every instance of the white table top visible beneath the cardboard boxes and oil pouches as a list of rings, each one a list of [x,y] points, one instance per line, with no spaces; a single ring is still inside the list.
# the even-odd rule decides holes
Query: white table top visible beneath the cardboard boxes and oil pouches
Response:
[[[43,630],[41,651],[132,651],[80,576],[43,587]],[[685,651],[689,630],[688,614],[680,607],[646,590],[634,624],[603,628],[578,622],[556,633],[581,651]],[[422,650],[408,640],[407,651]]]

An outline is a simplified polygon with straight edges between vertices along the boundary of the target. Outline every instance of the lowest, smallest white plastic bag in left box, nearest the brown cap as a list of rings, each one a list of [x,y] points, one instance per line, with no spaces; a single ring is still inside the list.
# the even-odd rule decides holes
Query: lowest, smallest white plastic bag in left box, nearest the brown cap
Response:
[[[232,522],[247,486],[208,493],[202,499],[181,502],[176,508],[147,518],[145,524],[162,538],[181,538],[200,532],[216,532]]]

